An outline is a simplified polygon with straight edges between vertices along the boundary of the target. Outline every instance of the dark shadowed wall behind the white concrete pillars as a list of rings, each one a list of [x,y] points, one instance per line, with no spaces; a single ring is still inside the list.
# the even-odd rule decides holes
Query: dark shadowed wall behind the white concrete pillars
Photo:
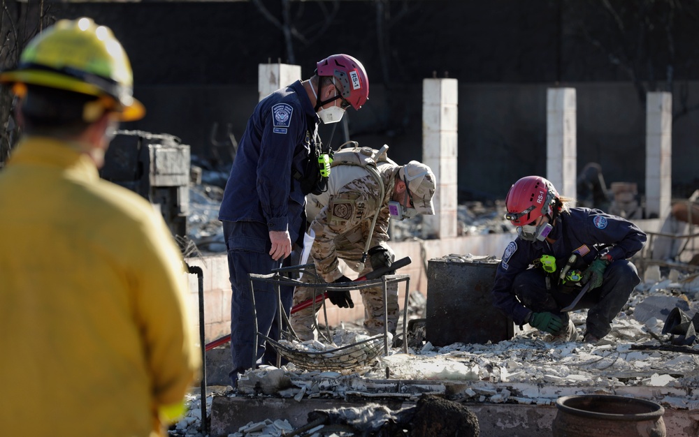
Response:
[[[281,19],[282,1],[262,1]],[[459,80],[462,200],[504,198],[519,177],[545,174],[546,90],[577,89],[578,171],[602,165],[607,184],[644,189],[644,94],[673,93],[673,195],[699,188],[695,171],[699,19],[689,1],[456,0],[291,2],[296,38],[249,1],[51,3],[56,18],[113,29],[134,67],[147,117],[124,128],[177,135],[212,156],[229,124],[240,138],[257,103],[258,64],[302,67],[345,52],[370,78],[370,100],[348,112],[349,137],[421,157],[422,80]],[[673,6],[675,5],[675,6]],[[326,16],[331,19],[323,28]],[[686,112],[686,114],[683,114]],[[326,141],[329,129],[324,129]],[[343,141],[340,130],[333,145]]]

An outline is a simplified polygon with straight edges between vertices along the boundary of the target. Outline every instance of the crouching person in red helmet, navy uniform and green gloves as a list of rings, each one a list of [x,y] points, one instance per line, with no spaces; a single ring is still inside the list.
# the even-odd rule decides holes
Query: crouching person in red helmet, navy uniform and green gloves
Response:
[[[540,176],[519,179],[505,199],[505,218],[518,237],[505,249],[493,284],[493,305],[518,325],[577,341],[566,311],[589,309],[584,341],[610,333],[612,320],[640,282],[628,261],[646,235],[636,225],[600,209],[571,208],[553,184]]]

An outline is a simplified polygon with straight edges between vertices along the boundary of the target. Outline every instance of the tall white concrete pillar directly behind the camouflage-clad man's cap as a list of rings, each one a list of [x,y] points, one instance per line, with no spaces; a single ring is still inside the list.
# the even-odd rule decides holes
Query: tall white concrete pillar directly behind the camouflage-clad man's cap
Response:
[[[423,237],[456,237],[457,205],[457,103],[456,79],[422,81],[422,163],[437,177],[434,216],[423,216]]]

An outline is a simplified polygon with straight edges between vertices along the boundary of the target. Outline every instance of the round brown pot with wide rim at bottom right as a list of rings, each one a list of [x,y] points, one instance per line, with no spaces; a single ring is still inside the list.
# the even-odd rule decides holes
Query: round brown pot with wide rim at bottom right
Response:
[[[651,401],[607,394],[556,400],[554,437],[665,437],[665,408]]]

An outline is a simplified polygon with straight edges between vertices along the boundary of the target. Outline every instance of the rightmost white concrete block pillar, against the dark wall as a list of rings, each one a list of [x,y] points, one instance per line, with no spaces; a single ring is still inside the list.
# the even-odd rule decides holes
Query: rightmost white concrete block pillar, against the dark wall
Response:
[[[646,218],[666,218],[672,200],[672,94],[646,98]]]

